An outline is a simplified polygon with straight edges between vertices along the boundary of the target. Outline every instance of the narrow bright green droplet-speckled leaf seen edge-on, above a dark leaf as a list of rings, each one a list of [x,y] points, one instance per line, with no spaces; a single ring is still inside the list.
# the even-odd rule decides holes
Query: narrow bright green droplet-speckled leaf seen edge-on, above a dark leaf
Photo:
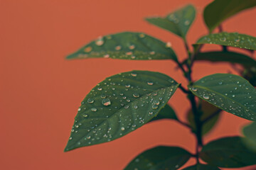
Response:
[[[228,45],[230,47],[245,48],[256,50],[256,38],[250,35],[240,33],[215,33],[200,38],[196,45],[199,44],[216,44]]]

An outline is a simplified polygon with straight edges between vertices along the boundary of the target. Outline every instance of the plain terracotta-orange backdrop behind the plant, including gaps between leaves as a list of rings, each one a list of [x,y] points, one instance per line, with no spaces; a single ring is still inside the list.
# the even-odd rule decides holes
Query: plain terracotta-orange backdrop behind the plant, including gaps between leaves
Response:
[[[80,102],[105,77],[141,69],[163,72],[186,86],[172,61],[67,61],[64,57],[99,35],[132,30],[171,41],[182,60],[186,53],[181,39],[143,18],[164,16],[188,3],[198,10],[188,32],[188,42],[192,43],[208,33],[201,14],[209,0],[1,0],[0,169],[118,170],[156,145],[176,145],[194,152],[193,135],[171,120],[145,125],[113,142],[63,152]],[[256,36],[255,16],[255,9],[244,11],[225,21],[223,28]],[[220,47],[206,45],[204,49]],[[194,69],[194,79],[233,72],[228,64],[198,63]],[[170,102],[178,117],[185,120],[189,106],[186,96],[178,90]],[[246,123],[249,121],[223,113],[206,142],[238,135]]]

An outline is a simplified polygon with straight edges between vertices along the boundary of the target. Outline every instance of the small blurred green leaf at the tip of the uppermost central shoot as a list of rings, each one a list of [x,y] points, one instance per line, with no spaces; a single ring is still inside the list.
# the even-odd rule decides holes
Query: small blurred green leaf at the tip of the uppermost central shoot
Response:
[[[146,18],[149,23],[158,26],[159,28],[164,28],[169,30],[181,38],[186,38],[186,33],[193,23],[196,16],[196,9],[192,5],[185,6],[183,8],[170,13],[164,18],[161,17],[151,17]]]

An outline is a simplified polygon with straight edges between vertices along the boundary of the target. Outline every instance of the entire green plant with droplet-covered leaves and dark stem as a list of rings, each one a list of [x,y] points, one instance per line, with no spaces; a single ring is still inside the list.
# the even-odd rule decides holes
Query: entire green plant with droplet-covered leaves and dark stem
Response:
[[[181,37],[188,58],[179,62],[170,42],[162,42],[145,33],[124,32],[106,35],[69,55],[68,59],[105,57],[122,60],[174,60],[188,79],[188,89],[159,72],[132,71],[108,77],[93,88],[78,108],[65,152],[78,147],[109,142],[142,127],[146,123],[171,119],[190,128],[198,140],[198,152],[191,154],[180,147],[159,146],[146,150],[125,169],[179,169],[195,157],[193,169],[218,169],[256,164],[255,123],[245,127],[245,137],[223,137],[203,145],[202,137],[218,121],[221,111],[247,120],[256,120],[256,61],[231,52],[227,46],[256,50],[256,38],[240,33],[212,33],[220,23],[236,13],[256,5],[254,0],[215,0],[206,6],[203,18],[209,35],[199,38],[189,50],[186,34],[196,17],[192,5],[165,17],[146,18],[149,23]],[[200,52],[205,44],[223,46],[223,51]],[[240,64],[240,76],[212,74],[196,82],[191,79],[194,62],[230,62]],[[248,81],[247,81],[247,80]],[[251,83],[251,84],[250,84]],[[180,88],[188,94],[191,111],[188,124],[181,122],[168,101]],[[196,98],[196,99],[195,99]],[[201,164],[199,158],[207,164]]]

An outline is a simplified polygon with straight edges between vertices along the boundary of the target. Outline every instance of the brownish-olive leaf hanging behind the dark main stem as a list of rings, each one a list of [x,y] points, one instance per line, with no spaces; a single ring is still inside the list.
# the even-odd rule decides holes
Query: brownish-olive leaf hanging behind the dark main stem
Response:
[[[208,120],[206,123],[203,124],[202,135],[206,135],[206,133],[208,133],[214,127],[214,125],[218,122],[219,114],[216,114],[216,113],[220,113],[220,109],[206,101],[202,101],[201,111],[202,111],[202,115],[201,115],[202,121],[206,120],[206,118],[208,118],[209,116],[215,114],[213,118],[211,118],[210,120]],[[191,128],[193,128],[193,130],[196,130],[196,123],[194,120],[193,112],[191,110],[188,111],[187,113],[187,119],[188,119],[189,125],[191,125]]]

